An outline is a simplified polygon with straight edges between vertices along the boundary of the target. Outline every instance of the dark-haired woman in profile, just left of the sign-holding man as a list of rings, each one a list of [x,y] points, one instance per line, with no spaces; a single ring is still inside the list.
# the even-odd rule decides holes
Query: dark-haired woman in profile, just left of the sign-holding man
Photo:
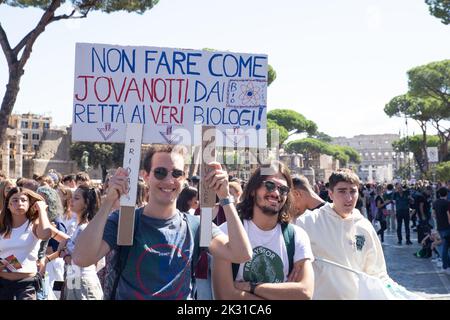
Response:
[[[95,188],[80,185],[73,193],[70,209],[77,216],[78,225],[72,238],[62,251],[62,257],[67,264],[65,282],[66,300],[102,300],[103,290],[97,276],[95,264],[80,267],[72,263],[72,252],[78,236],[86,228],[100,206],[100,192]],[[64,245],[64,244],[63,244]]]

